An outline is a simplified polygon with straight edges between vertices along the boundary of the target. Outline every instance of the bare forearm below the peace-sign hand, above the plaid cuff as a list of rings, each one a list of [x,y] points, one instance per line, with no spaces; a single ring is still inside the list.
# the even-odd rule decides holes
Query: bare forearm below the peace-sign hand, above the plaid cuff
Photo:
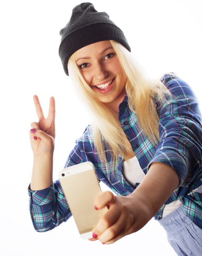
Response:
[[[46,189],[53,183],[53,155],[34,157],[31,177],[31,190]]]

